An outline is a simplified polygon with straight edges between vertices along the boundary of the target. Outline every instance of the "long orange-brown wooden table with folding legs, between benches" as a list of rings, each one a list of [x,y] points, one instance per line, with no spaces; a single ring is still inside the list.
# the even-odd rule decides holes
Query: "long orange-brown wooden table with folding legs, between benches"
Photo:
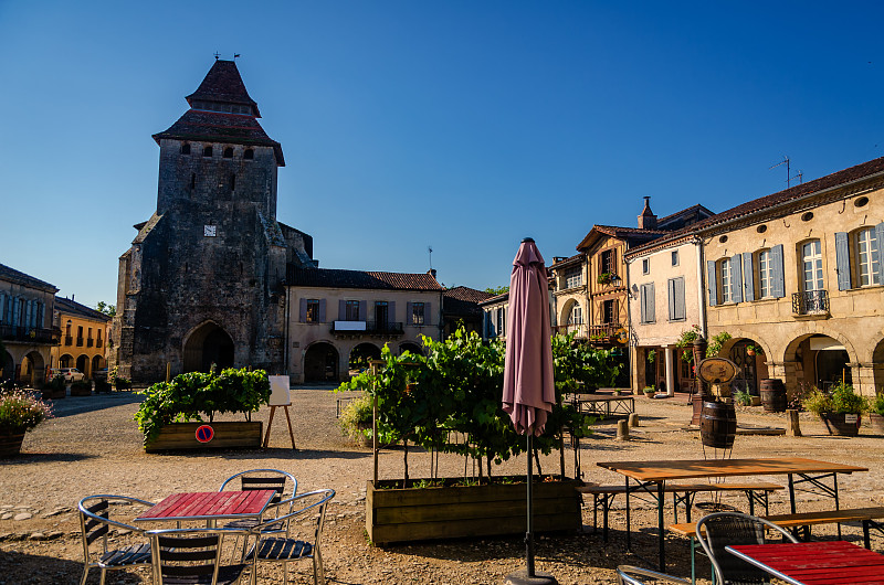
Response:
[[[753,459],[696,459],[696,460],[663,460],[663,461],[599,461],[597,465],[611,471],[625,476],[627,481],[627,550],[631,551],[632,525],[630,518],[630,492],[649,493],[656,499],[657,512],[657,547],[660,554],[660,571],[665,573],[665,531],[663,524],[664,489],[666,481],[698,478],[725,478],[739,476],[776,476],[789,477],[789,502],[792,513],[796,513],[794,492],[796,486],[809,483],[811,489],[835,501],[839,509],[838,474],[852,474],[853,471],[869,471],[866,467],[855,465],[830,464],[800,457],[753,458]],[[798,479],[794,478],[798,476]],[[635,480],[632,486],[630,480]],[[831,486],[824,480],[831,479]],[[839,525],[839,535],[841,534]]]

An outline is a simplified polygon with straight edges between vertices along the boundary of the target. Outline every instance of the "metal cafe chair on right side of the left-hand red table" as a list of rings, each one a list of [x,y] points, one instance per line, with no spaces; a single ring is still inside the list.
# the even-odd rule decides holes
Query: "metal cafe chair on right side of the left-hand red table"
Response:
[[[309,559],[313,561],[313,582],[314,585],[325,583],[325,571],[323,568],[323,555],[320,549],[320,539],[323,534],[323,526],[325,524],[325,514],[328,509],[328,502],[335,497],[335,490],[320,489],[295,496],[288,500],[283,500],[278,507],[288,506],[290,508],[297,508],[295,511],[277,515],[275,519],[266,520],[256,525],[252,533],[255,536],[255,544],[249,551],[246,561],[254,563],[252,568],[252,585],[255,585],[257,577],[257,563],[282,563],[283,564],[283,583],[288,582],[288,563],[293,561],[303,561]],[[313,534],[307,534],[304,538],[295,538],[292,534],[293,521],[297,521],[299,517],[312,514],[306,520],[307,526],[313,524]],[[309,522],[316,518],[315,523]],[[285,533],[269,532],[266,526],[272,525],[274,522],[285,523]],[[312,536],[312,538],[309,538]]]

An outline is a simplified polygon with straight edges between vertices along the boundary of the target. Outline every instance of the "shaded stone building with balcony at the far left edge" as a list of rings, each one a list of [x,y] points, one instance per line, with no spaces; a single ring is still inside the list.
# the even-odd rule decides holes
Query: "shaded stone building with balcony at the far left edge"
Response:
[[[59,331],[52,327],[53,285],[0,264],[0,380],[39,387],[51,365]]]

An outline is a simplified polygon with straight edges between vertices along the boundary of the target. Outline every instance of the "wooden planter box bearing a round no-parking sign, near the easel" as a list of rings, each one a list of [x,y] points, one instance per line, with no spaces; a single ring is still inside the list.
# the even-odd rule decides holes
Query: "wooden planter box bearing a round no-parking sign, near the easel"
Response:
[[[207,443],[197,440],[197,429],[212,427],[213,437]],[[170,449],[259,449],[261,448],[263,423],[172,423],[164,426],[159,434],[145,445],[147,453]]]

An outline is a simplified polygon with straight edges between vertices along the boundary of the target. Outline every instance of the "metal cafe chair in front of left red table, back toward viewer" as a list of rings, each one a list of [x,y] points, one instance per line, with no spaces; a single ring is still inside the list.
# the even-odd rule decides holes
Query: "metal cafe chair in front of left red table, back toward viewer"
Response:
[[[221,564],[223,529],[151,530],[150,550],[155,585],[231,585],[238,583],[246,563]]]

